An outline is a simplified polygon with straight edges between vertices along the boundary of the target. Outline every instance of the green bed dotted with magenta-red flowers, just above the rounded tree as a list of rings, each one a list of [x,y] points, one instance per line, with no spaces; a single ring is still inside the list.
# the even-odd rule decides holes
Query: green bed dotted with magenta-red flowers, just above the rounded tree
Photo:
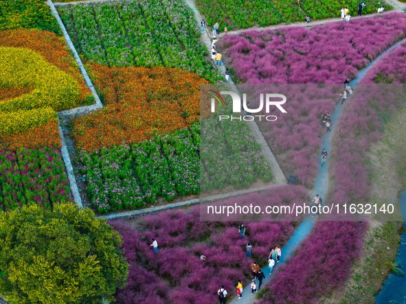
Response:
[[[59,150],[23,148],[0,152],[0,209],[8,211],[36,203],[52,208],[70,200],[69,185]]]

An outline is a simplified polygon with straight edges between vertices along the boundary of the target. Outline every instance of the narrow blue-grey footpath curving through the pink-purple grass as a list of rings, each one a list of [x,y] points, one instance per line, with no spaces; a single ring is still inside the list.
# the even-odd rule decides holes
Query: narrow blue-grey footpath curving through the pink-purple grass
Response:
[[[354,78],[354,80],[352,80],[352,82],[350,82],[350,86],[353,89],[355,89],[357,87],[357,84],[359,83],[359,81],[365,75],[365,73],[367,73],[372,67],[374,67],[374,65],[376,65],[377,62],[382,60],[383,57],[386,56],[390,51],[394,50],[396,47],[398,47],[398,45],[401,45],[402,43],[405,43],[405,42],[406,42],[406,38],[399,41],[398,43],[395,43],[394,45],[392,45],[392,47],[383,51],[383,53],[381,55],[377,56],[364,69],[359,71],[359,73],[357,74],[357,77]],[[348,98],[347,102],[351,102],[351,99]],[[341,105],[341,102],[339,102],[335,108],[334,113],[332,113],[332,115],[331,115],[332,125],[330,128],[331,128],[332,132],[326,132],[326,134],[324,135],[323,141],[322,141],[322,147],[319,151],[319,154],[322,153],[323,148],[326,148],[326,150],[330,154],[330,151],[332,149],[332,146],[331,146],[332,134],[335,130],[337,121],[339,120],[339,117],[341,115],[342,108],[343,108],[343,105]],[[323,166],[321,166],[321,165],[319,166],[319,172],[317,173],[317,177],[315,180],[315,186],[313,188],[313,196],[315,196],[315,194],[319,194],[319,196],[325,202],[327,191],[328,191],[328,161],[326,161],[326,163]],[[312,196],[312,198],[313,198],[313,196]],[[310,204],[310,202],[309,202],[309,204]],[[275,265],[273,272],[278,271],[278,268],[280,267],[280,265],[286,263],[286,261],[288,261],[292,257],[295,249],[304,241],[304,239],[307,237],[307,235],[309,233],[311,233],[311,231],[313,230],[313,226],[314,226],[316,220],[317,220],[317,216],[314,216],[314,217],[308,216],[297,227],[295,233],[293,233],[293,235],[288,240],[288,242],[286,242],[286,244],[282,247],[282,255],[280,257],[280,262]],[[248,227],[248,229],[249,229],[249,227]],[[247,239],[247,242],[249,242],[249,239]],[[270,245],[273,245],[273,244],[270,244]],[[253,248],[253,253],[255,253],[255,248]],[[264,281],[262,281],[262,285],[264,285],[265,283],[267,283],[267,281],[269,281],[269,279],[272,279],[273,274],[271,274],[271,276],[269,276],[268,266],[265,266],[262,269],[262,272],[264,272],[264,275],[266,278]],[[250,285],[251,285],[251,282],[249,282],[249,284],[244,287],[244,292],[243,292],[242,298],[238,299],[235,296],[235,299],[234,299],[234,301],[232,301],[232,303],[239,303],[239,304],[253,303],[255,300],[255,295],[251,296]],[[257,286],[258,286],[258,280],[257,280]],[[232,294],[232,296],[234,298],[235,291],[230,290],[229,294]]]

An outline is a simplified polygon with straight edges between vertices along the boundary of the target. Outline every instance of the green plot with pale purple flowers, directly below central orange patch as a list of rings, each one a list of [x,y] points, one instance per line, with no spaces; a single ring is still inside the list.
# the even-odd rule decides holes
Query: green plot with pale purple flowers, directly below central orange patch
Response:
[[[81,152],[80,170],[95,209],[138,209],[159,198],[170,201],[272,179],[271,167],[244,122],[209,121],[202,131],[195,124],[131,147]],[[206,132],[204,143],[201,132]]]

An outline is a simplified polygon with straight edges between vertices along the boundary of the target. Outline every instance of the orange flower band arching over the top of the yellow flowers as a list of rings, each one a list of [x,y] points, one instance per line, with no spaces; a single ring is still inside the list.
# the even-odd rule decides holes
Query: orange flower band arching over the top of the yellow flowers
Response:
[[[84,83],[82,74],[80,74],[78,65],[69,53],[69,49],[65,45],[65,39],[58,37],[56,34],[41,30],[6,30],[0,32],[0,46],[1,47],[25,47],[36,51],[51,65],[58,67],[58,69],[68,73],[74,77],[80,85],[80,95],[83,104],[91,103],[93,96],[89,88]],[[10,91],[7,89],[6,91]],[[24,93],[27,93],[26,91]],[[19,93],[18,95],[21,95]],[[11,96],[15,97],[15,96]],[[0,91],[0,100],[5,99]],[[86,101],[85,101],[86,99]]]

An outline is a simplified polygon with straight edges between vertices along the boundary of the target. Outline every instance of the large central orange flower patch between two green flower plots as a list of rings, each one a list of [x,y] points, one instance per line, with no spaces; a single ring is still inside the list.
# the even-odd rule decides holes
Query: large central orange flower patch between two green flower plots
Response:
[[[199,120],[200,85],[208,82],[195,73],[97,64],[87,69],[106,106],[74,121],[71,135],[78,149],[138,143]]]

